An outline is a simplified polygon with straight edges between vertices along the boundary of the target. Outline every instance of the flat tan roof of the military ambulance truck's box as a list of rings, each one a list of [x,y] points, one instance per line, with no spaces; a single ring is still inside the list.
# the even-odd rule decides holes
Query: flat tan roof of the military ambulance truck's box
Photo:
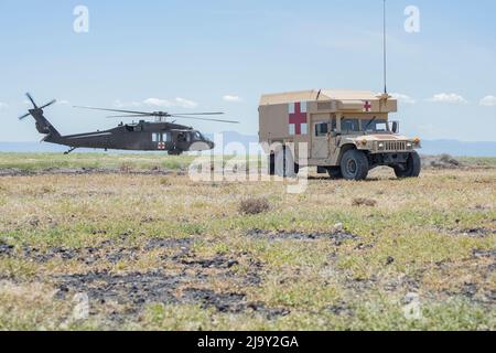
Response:
[[[381,94],[369,90],[352,89],[311,89],[300,92],[287,92],[279,94],[263,95],[260,99],[260,106],[290,104],[295,101],[331,101],[331,100],[380,100]],[[396,100],[389,98],[389,100]]]

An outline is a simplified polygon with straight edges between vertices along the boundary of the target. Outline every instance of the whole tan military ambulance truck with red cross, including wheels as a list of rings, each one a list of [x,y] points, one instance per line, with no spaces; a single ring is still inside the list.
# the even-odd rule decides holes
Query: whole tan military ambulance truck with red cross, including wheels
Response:
[[[365,90],[263,95],[259,137],[270,174],[294,176],[302,167],[316,167],[332,179],[365,180],[371,169],[387,165],[398,178],[419,176],[421,141],[399,133],[399,122],[389,119],[397,110],[388,94]],[[308,156],[299,156],[302,142]]]

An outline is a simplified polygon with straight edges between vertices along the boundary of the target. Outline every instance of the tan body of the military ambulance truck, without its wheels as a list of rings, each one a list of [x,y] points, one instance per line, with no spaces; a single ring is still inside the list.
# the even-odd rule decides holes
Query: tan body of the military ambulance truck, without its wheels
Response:
[[[309,167],[339,167],[343,153],[352,148],[367,154],[370,169],[393,167],[420,148],[419,139],[400,136],[391,128],[389,114],[397,110],[398,103],[391,96],[366,90],[314,89],[263,95],[259,106],[260,142],[266,146],[305,142],[308,156],[303,160],[308,160]],[[387,129],[367,131],[370,121],[380,121]],[[299,148],[292,153],[295,161],[302,160]]]

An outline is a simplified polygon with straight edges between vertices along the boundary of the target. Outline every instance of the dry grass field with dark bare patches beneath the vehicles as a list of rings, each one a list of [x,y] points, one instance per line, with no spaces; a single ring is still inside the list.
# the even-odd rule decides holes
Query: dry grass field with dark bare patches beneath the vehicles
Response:
[[[190,161],[0,154],[0,330],[496,329],[496,159],[303,194]]]

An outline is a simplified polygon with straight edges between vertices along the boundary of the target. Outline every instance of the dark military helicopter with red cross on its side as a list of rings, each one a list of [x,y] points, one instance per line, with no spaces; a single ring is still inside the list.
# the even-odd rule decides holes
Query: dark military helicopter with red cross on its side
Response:
[[[165,111],[134,111],[120,109],[105,109],[94,107],[75,107],[100,111],[119,113],[120,115],[109,116],[109,118],[141,118],[138,122],[123,124],[118,127],[87,133],[62,136],[43,115],[43,109],[52,106],[56,100],[52,100],[39,107],[33,97],[28,93],[28,99],[33,104],[33,109],[20,117],[20,120],[32,116],[36,121],[36,129],[40,133],[46,135],[42,142],[67,146],[69,148],[65,154],[78,148],[93,148],[104,150],[129,150],[129,151],[166,151],[171,156],[180,156],[188,151],[205,151],[214,149],[213,141],[207,139],[202,132],[192,127],[177,125],[175,121],[168,121],[170,118],[193,119],[203,121],[214,121],[224,124],[239,124],[239,121],[201,118],[201,116],[223,115],[224,113],[190,113],[170,114]],[[144,118],[154,117],[155,121],[147,121]]]

